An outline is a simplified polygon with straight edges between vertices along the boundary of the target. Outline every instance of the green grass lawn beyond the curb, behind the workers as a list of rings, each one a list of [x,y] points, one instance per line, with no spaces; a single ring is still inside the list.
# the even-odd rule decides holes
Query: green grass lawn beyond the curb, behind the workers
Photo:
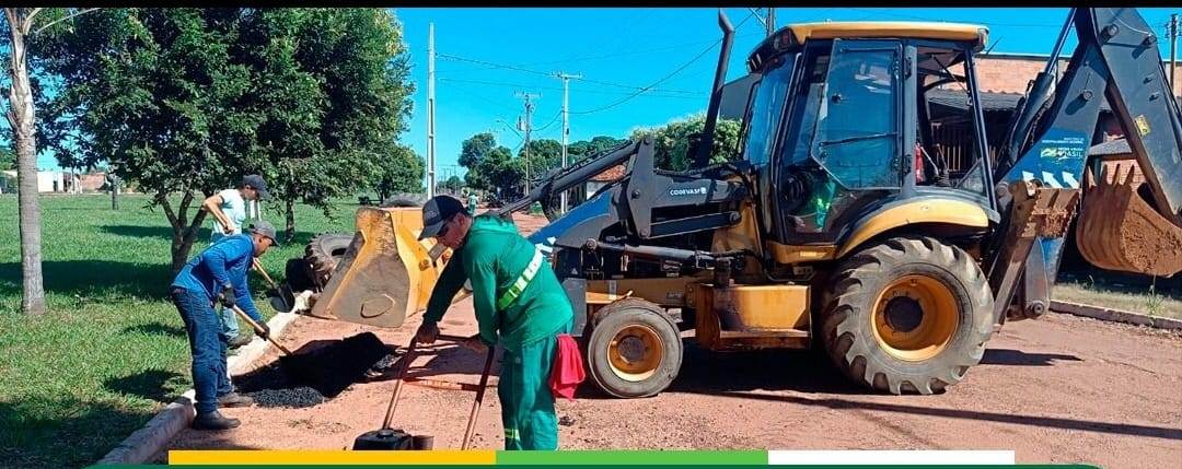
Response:
[[[0,196],[0,465],[90,464],[191,387],[183,324],[167,298],[171,228],[145,203],[122,196],[111,210],[108,196],[43,196],[50,312],[26,318],[17,197]],[[314,234],[352,230],[355,209],[342,203],[330,221],[299,207],[296,241],[262,258],[272,278]],[[208,245],[210,223],[191,254]],[[249,278],[269,317],[262,280]]]

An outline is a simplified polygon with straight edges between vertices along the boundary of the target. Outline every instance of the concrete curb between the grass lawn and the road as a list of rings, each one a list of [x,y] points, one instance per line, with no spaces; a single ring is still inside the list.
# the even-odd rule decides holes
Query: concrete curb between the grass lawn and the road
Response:
[[[267,326],[271,327],[271,336],[279,338],[284,328],[296,320],[299,314],[278,313]],[[271,343],[258,337],[249,344],[239,349],[238,354],[229,357],[226,365],[229,366],[230,374],[240,374],[251,369],[251,364],[267,351]],[[193,409],[194,390],[188,390],[173,403],[164,406],[160,413],[148,421],[143,428],[129,435],[122,443],[106,454],[97,464],[143,464],[152,461],[168,447],[168,442],[177,432],[189,426],[193,422],[195,410]]]

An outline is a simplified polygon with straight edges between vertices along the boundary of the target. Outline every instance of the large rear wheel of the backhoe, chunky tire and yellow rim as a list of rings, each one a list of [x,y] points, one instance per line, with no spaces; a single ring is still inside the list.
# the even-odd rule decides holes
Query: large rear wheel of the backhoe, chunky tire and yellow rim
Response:
[[[821,340],[850,379],[881,392],[942,392],[981,361],[993,293],[968,253],[931,237],[896,237],[839,269]]]

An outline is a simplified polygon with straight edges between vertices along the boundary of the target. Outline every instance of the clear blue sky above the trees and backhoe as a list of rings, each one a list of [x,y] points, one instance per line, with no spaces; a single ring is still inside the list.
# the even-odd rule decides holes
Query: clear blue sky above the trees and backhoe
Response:
[[[517,92],[534,100],[534,138],[561,137],[561,82],[556,71],[582,73],[571,82],[571,141],[597,135],[623,137],[636,126],[663,124],[706,109],[719,56],[715,8],[396,8],[413,64],[416,92],[410,130],[401,141],[427,155],[427,32],[435,24],[436,177],[456,174],[460,143],[493,131],[518,148],[515,124],[522,113]],[[761,11],[762,12],[762,11]],[[1165,37],[1171,8],[1141,8]],[[726,8],[738,25],[729,79],[764,37],[747,8]],[[994,52],[1048,53],[1067,8],[777,8],[777,25],[843,20],[931,20],[983,24]],[[1073,44],[1071,44],[1073,46]],[[1163,54],[1168,43],[1161,43]],[[1070,52],[1070,48],[1067,50]],[[695,60],[694,58],[697,57]],[[508,66],[508,67],[506,67]],[[517,70],[514,70],[517,69]],[[678,69],[681,69],[678,71]],[[674,73],[676,72],[676,73]],[[630,99],[639,87],[664,79]],[[615,105],[613,105],[615,104]],[[613,106],[610,106],[613,105]],[[610,108],[609,108],[610,106]],[[604,109],[606,108],[606,109]],[[6,124],[0,124],[6,126]],[[7,129],[4,129],[7,133]],[[7,139],[7,135],[4,139]],[[50,156],[43,169],[56,168]]]

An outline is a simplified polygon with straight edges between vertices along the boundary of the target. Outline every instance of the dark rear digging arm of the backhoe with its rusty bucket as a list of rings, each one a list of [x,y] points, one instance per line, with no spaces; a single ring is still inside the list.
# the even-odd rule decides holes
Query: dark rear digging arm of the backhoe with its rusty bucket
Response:
[[[1072,28],[1078,46],[1058,78],[1059,53]],[[1091,177],[1087,149],[1104,99],[1125,131],[1137,168]],[[1182,271],[1180,122],[1152,27],[1135,8],[1074,8],[1045,70],[1019,104],[994,180],[1065,189],[1096,180],[1095,188],[1082,188],[1077,245],[1084,258],[1108,269],[1174,275]],[[1143,175],[1145,188],[1138,188],[1134,172]],[[1020,288],[1024,311],[1034,313],[1048,304],[1063,247],[1061,237],[1032,246]]]

